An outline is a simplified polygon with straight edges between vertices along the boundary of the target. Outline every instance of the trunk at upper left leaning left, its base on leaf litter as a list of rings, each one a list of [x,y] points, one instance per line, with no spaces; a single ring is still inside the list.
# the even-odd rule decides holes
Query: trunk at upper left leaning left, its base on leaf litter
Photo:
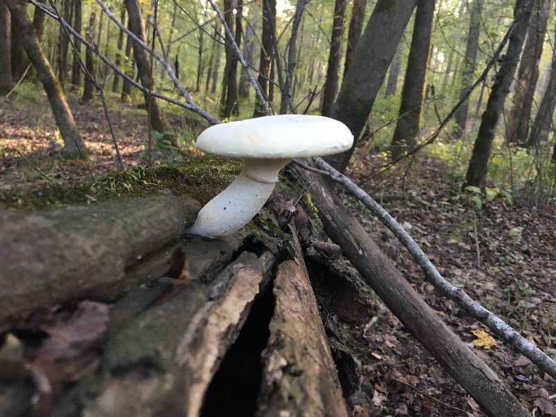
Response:
[[[35,70],[37,70],[38,78],[47,92],[47,97],[54,113],[56,125],[60,129],[60,135],[64,141],[64,152],[67,156],[72,158],[79,158],[80,156],[87,156],[87,149],[85,144],[79,136],[77,126],[74,122],[74,117],[70,106],[67,105],[65,94],[56,80],[56,76],[50,67],[47,58],[42,54],[42,49],[35,32],[33,23],[28,19],[25,3],[18,0],[4,0],[13,19],[16,19],[20,32],[21,41],[25,51],[33,63]]]

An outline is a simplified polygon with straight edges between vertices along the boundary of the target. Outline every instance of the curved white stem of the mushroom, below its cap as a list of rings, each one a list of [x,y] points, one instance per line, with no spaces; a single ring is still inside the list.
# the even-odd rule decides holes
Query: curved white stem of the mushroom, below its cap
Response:
[[[199,211],[186,233],[220,238],[241,229],[261,210],[274,190],[278,173],[290,161],[247,159],[234,182]]]

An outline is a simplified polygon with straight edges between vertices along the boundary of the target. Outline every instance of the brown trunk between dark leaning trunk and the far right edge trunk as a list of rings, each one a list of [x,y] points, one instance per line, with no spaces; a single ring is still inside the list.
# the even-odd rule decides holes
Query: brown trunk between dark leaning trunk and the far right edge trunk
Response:
[[[534,0],[527,41],[521,54],[514,106],[506,125],[508,143],[525,145],[529,134],[534,92],[539,79],[539,61],[543,52],[544,35],[552,0]]]

